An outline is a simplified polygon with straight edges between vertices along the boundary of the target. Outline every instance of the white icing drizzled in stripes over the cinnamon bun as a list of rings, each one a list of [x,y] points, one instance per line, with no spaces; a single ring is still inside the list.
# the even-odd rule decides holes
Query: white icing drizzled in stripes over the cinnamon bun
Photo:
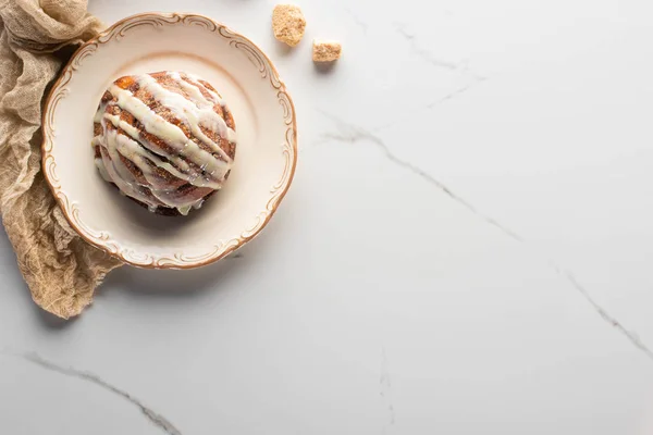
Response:
[[[201,130],[200,126],[215,132],[218,136],[233,144],[236,141],[236,134],[214,112],[215,104],[224,108],[224,101],[215,92],[185,73],[168,73],[168,77],[172,78],[188,98],[165,89],[148,74],[137,76],[136,83],[161,105],[171,110],[195,137],[219,157],[205,151],[193,140],[188,140],[178,126],[158,115],[130,90],[122,89],[115,84],[109,88],[109,92],[115,98],[115,101],[100,104],[94,117],[94,122],[102,125],[103,133],[94,137],[91,145],[101,146],[102,158],[96,158],[96,165],[100,174],[106,181],[113,182],[122,194],[144,202],[151,211],[157,207],[164,206],[176,208],[181,214],[185,215],[190,209],[200,208],[204,198],[197,199],[180,194],[176,188],[170,186],[170,182],[165,177],[160,176],[157,169],[193,186],[218,190],[222,187],[224,176],[231,170],[233,161],[219,144]],[[188,83],[185,78],[194,83]],[[201,90],[206,91],[209,98]],[[143,124],[147,133],[163,140],[176,154],[150,144],[140,135],[138,128],[122,121],[120,116],[108,113],[108,104],[116,104],[122,110],[130,112]],[[111,124],[113,128],[108,128],[108,124]],[[118,128],[125,134],[119,133]],[[139,183],[136,179],[121,157],[140,170],[146,183]],[[189,165],[184,159],[194,163],[199,170]]]

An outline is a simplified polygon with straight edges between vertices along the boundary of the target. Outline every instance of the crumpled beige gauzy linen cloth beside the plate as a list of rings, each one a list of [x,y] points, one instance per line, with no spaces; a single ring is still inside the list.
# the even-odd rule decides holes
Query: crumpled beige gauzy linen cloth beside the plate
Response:
[[[44,94],[72,53],[65,47],[102,28],[86,5],[0,0],[0,213],[34,301],[63,319],[79,314],[121,264],[69,226],[40,163]]]

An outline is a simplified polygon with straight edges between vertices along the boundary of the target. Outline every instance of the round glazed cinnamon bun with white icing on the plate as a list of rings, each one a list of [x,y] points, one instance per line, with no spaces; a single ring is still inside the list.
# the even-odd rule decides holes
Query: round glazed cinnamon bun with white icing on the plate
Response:
[[[102,177],[150,211],[186,215],[222,188],[236,153],[234,119],[206,80],[182,72],[130,75],[94,119]]]

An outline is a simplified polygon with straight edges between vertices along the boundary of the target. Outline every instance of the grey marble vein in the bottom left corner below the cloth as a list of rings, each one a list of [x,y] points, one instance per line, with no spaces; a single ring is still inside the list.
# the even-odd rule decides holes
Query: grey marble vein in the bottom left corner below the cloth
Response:
[[[128,400],[130,402],[132,402],[133,405],[135,405],[136,407],[138,407],[138,409],[140,409],[140,412],[143,412],[143,414],[156,426],[158,426],[159,428],[161,428],[165,434],[168,435],[182,435],[182,433],[180,432],[178,428],[176,428],[168,419],[165,419],[163,415],[158,414],[157,412],[152,411],[150,408],[146,407],[145,405],[143,405],[143,402],[140,400],[138,400],[137,398],[135,398],[134,396],[132,396],[131,394],[128,394],[127,391],[120,389],[111,384],[109,384],[108,382],[103,381],[100,376],[98,376],[97,374],[90,373],[90,372],[85,372],[85,371],[81,371],[71,366],[62,366],[59,364],[56,364],[51,361],[46,360],[45,358],[40,357],[37,353],[34,352],[27,352],[27,353],[10,353],[10,352],[2,352],[7,356],[11,356],[11,357],[16,357],[20,358],[24,361],[30,362],[35,365],[40,366],[41,369],[45,370],[49,370],[51,372],[56,372],[59,374],[62,374],[64,376],[70,376],[70,377],[76,377],[78,380],[82,381],[87,381],[90,382],[93,384],[96,384],[126,400]]]

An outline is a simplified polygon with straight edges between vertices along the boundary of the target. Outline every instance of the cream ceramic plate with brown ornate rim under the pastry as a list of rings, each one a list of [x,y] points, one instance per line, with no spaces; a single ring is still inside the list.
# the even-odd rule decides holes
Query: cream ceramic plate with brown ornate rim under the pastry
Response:
[[[188,216],[160,216],[106,183],[94,165],[93,117],[107,87],[127,74],[185,71],[211,83],[238,132],[229,181]],[[44,111],[46,178],[88,243],[141,268],[217,261],[255,237],[286,194],[297,161],[295,110],[268,57],[250,40],[193,14],[140,14],[85,44]]]

